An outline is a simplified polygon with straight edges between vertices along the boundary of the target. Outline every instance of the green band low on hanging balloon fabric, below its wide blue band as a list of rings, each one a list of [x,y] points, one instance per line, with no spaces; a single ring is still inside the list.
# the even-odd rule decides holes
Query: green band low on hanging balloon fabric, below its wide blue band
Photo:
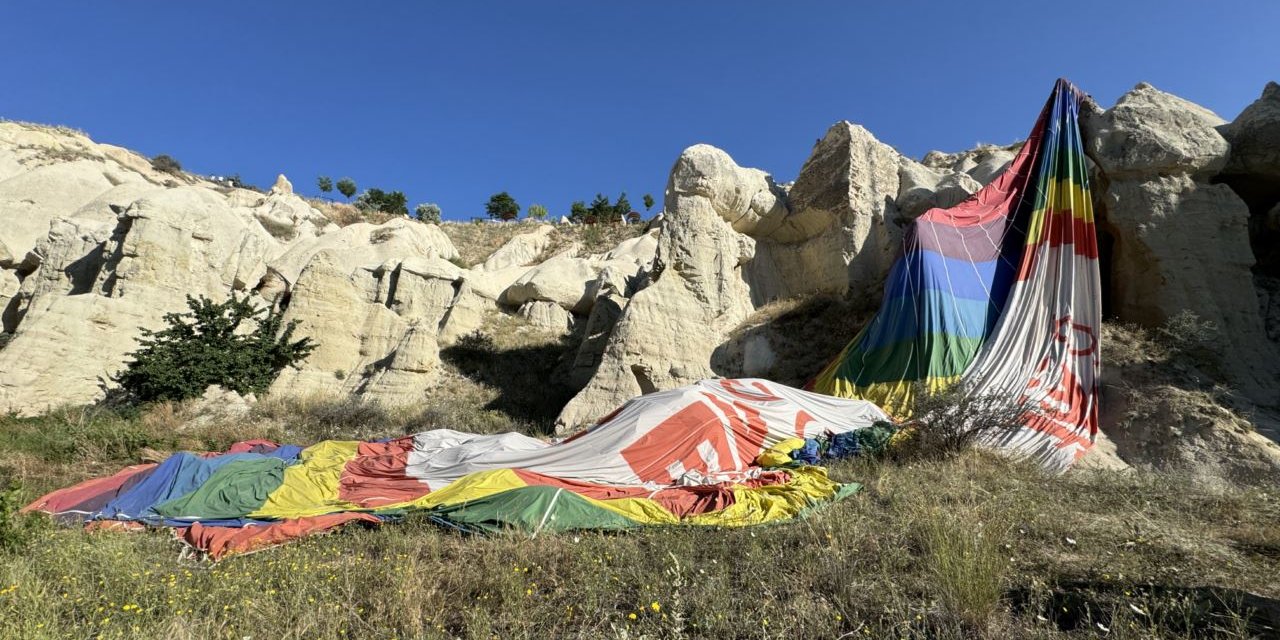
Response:
[[[982,343],[982,338],[929,333],[918,339],[895,342],[868,352],[851,349],[836,375],[851,380],[858,387],[925,378],[952,378],[963,374],[973,362]],[[923,361],[922,355],[928,355],[929,360]]]

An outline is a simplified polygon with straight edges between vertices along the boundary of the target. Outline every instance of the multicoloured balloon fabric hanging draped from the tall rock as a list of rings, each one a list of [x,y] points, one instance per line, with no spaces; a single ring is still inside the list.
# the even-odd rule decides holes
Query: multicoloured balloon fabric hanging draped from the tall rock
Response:
[[[1098,426],[1098,246],[1078,124],[1057,81],[1009,169],[906,229],[879,312],[812,388],[909,417],[916,389],[1011,398],[992,444],[1065,470]]]

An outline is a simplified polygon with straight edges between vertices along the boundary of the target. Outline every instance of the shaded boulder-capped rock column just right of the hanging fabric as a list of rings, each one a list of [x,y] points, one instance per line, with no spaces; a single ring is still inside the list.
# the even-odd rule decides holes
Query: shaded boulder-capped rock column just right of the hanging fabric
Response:
[[[1233,381],[1260,401],[1280,401],[1249,270],[1249,210],[1231,188],[1210,183],[1228,163],[1224,120],[1151,84],[1082,120],[1105,175],[1111,311],[1149,326],[1184,310],[1213,323]]]

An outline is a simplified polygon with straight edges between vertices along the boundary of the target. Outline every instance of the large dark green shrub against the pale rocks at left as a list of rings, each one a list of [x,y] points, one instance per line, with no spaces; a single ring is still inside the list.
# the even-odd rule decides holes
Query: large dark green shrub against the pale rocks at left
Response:
[[[315,343],[293,340],[297,321],[283,326],[278,312],[260,308],[248,296],[215,303],[187,296],[188,312],[165,314],[165,329],[143,329],[142,348],[115,379],[127,399],[180,401],[211,384],[237,393],[261,393],[285,366],[307,357]],[[242,332],[246,321],[256,323]]]

